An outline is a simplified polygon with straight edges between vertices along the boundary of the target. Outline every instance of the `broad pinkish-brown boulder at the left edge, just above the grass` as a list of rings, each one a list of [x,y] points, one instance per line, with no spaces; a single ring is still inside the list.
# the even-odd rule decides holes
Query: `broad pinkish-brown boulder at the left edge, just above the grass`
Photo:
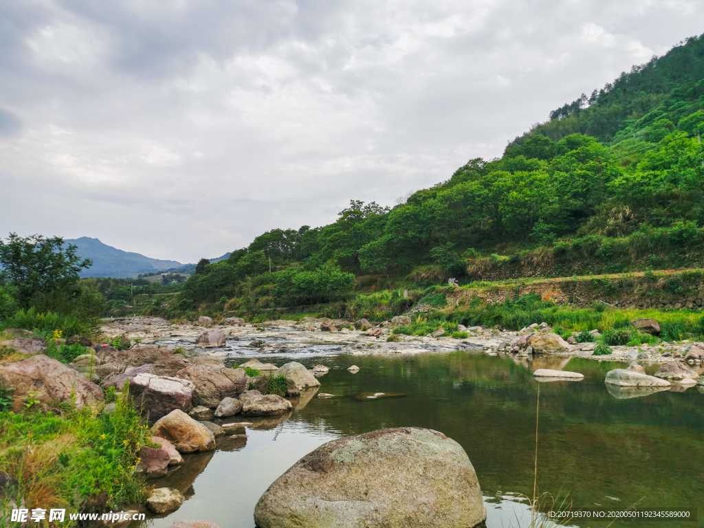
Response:
[[[33,400],[44,404],[70,401],[73,393],[79,409],[103,401],[99,386],[68,365],[42,355],[0,365],[0,386],[13,388],[14,411],[23,408],[30,392]]]

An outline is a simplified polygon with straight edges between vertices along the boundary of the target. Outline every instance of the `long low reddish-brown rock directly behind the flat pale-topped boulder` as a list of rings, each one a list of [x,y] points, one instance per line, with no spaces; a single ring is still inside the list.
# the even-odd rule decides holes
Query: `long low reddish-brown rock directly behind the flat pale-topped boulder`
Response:
[[[126,372],[130,367],[152,365],[152,374],[157,376],[173,376],[179,370],[191,363],[165,347],[145,346],[143,348],[130,348],[130,350],[97,352],[101,364],[96,367],[96,374],[105,379],[113,372]]]

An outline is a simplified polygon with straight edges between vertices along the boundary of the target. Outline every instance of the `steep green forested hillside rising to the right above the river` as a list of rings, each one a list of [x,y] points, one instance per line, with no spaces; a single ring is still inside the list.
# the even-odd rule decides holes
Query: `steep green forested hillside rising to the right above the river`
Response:
[[[394,208],[353,200],[330,225],[272,230],[204,263],[170,315],[233,298],[229,306],[254,310],[530,275],[531,266],[571,275],[702,262],[704,35],[550,117],[501,159],[471,159]]]

